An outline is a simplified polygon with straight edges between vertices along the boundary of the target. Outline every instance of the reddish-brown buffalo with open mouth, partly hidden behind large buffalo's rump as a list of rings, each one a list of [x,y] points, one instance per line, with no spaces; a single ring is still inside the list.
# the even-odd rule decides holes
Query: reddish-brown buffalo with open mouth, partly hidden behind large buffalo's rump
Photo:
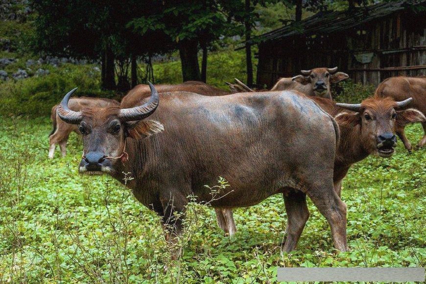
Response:
[[[349,168],[369,155],[389,158],[395,152],[398,126],[425,122],[416,109],[406,109],[412,98],[396,102],[390,97],[370,97],[360,104],[335,103],[328,98],[310,97],[335,118],[340,128],[340,142],[334,160],[333,184],[340,196],[342,180]],[[233,235],[236,232],[232,209],[216,210],[219,227]]]

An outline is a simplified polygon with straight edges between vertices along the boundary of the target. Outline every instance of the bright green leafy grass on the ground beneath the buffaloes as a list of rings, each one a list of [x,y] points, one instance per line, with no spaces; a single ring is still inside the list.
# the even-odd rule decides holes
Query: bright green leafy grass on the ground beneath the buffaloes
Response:
[[[2,117],[0,282],[276,281],[276,267],[425,266],[426,150],[369,157],[343,183],[350,252],[336,253],[325,218],[311,216],[291,254],[282,253],[286,214],[276,195],[235,210],[237,234],[224,237],[214,211],[192,206],[183,257],[170,260],[159,218],[111,177],[77,173],[81,141],[47,159],[47,117]],[[417,142],[419,124],[407,127]],[[211,185],[213,186],[213,185]],[[168,266],[166,273],[164,265]]]

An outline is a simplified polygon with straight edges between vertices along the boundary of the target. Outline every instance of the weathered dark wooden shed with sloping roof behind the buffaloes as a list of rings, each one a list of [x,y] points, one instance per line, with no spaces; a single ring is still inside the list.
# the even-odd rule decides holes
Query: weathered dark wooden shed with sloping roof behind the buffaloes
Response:
[[[259,45],[259,86],[315,67],[337,66],[355,82],[374,85],[390,76],[425,75],[426,0],[320,12],[249,43]]]

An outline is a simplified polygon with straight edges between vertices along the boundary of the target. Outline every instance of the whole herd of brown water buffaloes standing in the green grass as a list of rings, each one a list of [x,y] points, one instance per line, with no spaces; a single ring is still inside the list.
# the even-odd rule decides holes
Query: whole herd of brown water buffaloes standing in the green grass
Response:
[[[394,77],[359,104],[335,103],[330,85],[348,78],[337,68],[301,71],[270,91],[242,82],[225,92],[201,82],[138,85],[122,99],[71,98],[52,108],[55,144],[83,137],[80,173],[110,174],[162,216],[166,239],[182,231],[188,196],[212,204],[217,222],[236,232],[232,209],[282,193],[285,251],[296,248],[309,217],[308,196],[330,224],[334,247],[347,250],[346,205],[340,199],[349,168],[370,154],[391,157],[404,126],[422,122],[426,144],[426,77]],[[236,93],[236,94],[231,94]],[[132,180],[124,179],[130,173]],[[212,200],[219,176],[230,187]]]

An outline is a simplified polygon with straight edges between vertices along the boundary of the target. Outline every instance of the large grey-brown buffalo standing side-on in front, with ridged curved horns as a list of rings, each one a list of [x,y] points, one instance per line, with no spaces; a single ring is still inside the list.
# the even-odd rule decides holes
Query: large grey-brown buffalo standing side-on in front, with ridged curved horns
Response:
[[[295,249],[308,220],[308,195],[327,218],[335,248],[346,251],[346,205],[333,189],[338,126],[314,101],[293,91],[158,95],[150,87],[149,99],[126,109],[74,112],[67,104],[75,89],[65,95],[58,114],[83,134],[80,173],[108,173],[121,183],[123,173],[131,173],[126,186],[166,227],[172,225],[172,236],[184,218],[174,213],[185,213],[189,195],[234,208],[282,193],[286,251]],[[231,186],[212,201],[204,185],[219,176]]]

